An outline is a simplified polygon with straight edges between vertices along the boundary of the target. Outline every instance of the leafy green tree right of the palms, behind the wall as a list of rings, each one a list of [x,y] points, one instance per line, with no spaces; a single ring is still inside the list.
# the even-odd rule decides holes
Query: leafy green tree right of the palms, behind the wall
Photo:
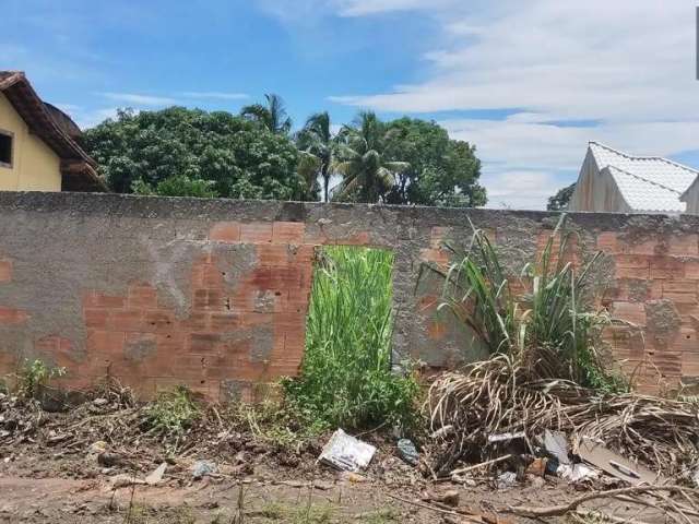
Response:
[[[410,164],[387,195],[390,203],[478,206],[487,201],[475,146],[451,140],[434,121],[405,117],[388,122],[386,155]]]

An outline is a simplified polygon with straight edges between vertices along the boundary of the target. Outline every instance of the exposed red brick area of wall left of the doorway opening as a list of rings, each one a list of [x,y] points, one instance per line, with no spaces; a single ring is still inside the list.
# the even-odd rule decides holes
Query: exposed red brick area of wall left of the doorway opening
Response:
[[[218,242],[254,248],[254,267],[234,285],[208,249]],[[34,353],[66,367],[61,381],[70,388],[109,374],[144,397],[183,383],[212,400],[251,400],[264,394],[264,384],[298,372],[316,246],[367,242],[365,234],[311,237],[297,222],[218,222],[191,267],[187,317],[163,303],[149,282],[130,282],[121,295],[92,289],[82,296],[84,355],[58,335],[36,340]],[[11,270],[11,261],[0,261],[0,283],[10,281]],[[0,306],[0,326],[27,319],[26,311]],[[262,353],[256,330],[270,341]],[[15,365],[0,361],[4,369]]]

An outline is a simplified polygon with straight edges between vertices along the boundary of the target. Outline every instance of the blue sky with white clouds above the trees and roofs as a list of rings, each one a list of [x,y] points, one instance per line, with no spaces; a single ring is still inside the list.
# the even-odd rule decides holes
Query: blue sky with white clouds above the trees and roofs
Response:
[[[475,143],[495,207],[543,207],[588,140],[699,167],[692,1],[521,5],[3,0],[0,69],[26,71],[83,127],[270,92],[297,124],[323,109],[337,124],[360,108],[435,119]]]

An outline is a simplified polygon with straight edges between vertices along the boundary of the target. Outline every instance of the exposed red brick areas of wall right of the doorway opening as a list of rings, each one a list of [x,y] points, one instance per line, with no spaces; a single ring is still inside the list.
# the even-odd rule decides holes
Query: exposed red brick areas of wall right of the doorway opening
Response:
[[[497,248],[496,233],[485,231]],[[450,228],[433,227],[422,260],[446,266],[450,253],[443,242],[452,234]],[[550,235],[549,229],[538,233],[538,254]],[[566,257],[580,267],[583,249],[577,238],[569,236]],[[552,263],[556,263],[560,235],[554,242]],[[612,323],[604,330],[603,342],[619,369],[641,391],[695,385],[699,379],[699,235],[653,231],[633,240],[619,231],[596,231],[594,243],[587,249],[588,254],[603,252],[599,265],[612,262],[609,282],[597,288],[596,307],[609,313]],[[516,293],[525,290],[526,283],[524,287],[520,284],[511,285]],[[423,295],[419,307],[429,337],[442,341],[448,330],[435,315],[437,303],[436,295]]]

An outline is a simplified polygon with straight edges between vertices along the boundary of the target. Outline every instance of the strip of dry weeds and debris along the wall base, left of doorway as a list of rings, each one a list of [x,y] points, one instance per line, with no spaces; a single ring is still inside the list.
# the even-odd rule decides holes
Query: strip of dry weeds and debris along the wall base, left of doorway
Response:
[[[85,402],[66,404],[64,413],[47,413],[36,398],[2,395],[0,446],[34,444],[81,453],[99,443],[97,452],[111,450],[120,457],[114,465],[125,471],[128,464],[152,464],[154,449],[164,458],[225,456],[242,464],[244,455],[252,453],[291,465],[320,449],[320,434],[283,404],[214,405],[185,388],[140,403],[130,389],[109,378],[80,396]]]

